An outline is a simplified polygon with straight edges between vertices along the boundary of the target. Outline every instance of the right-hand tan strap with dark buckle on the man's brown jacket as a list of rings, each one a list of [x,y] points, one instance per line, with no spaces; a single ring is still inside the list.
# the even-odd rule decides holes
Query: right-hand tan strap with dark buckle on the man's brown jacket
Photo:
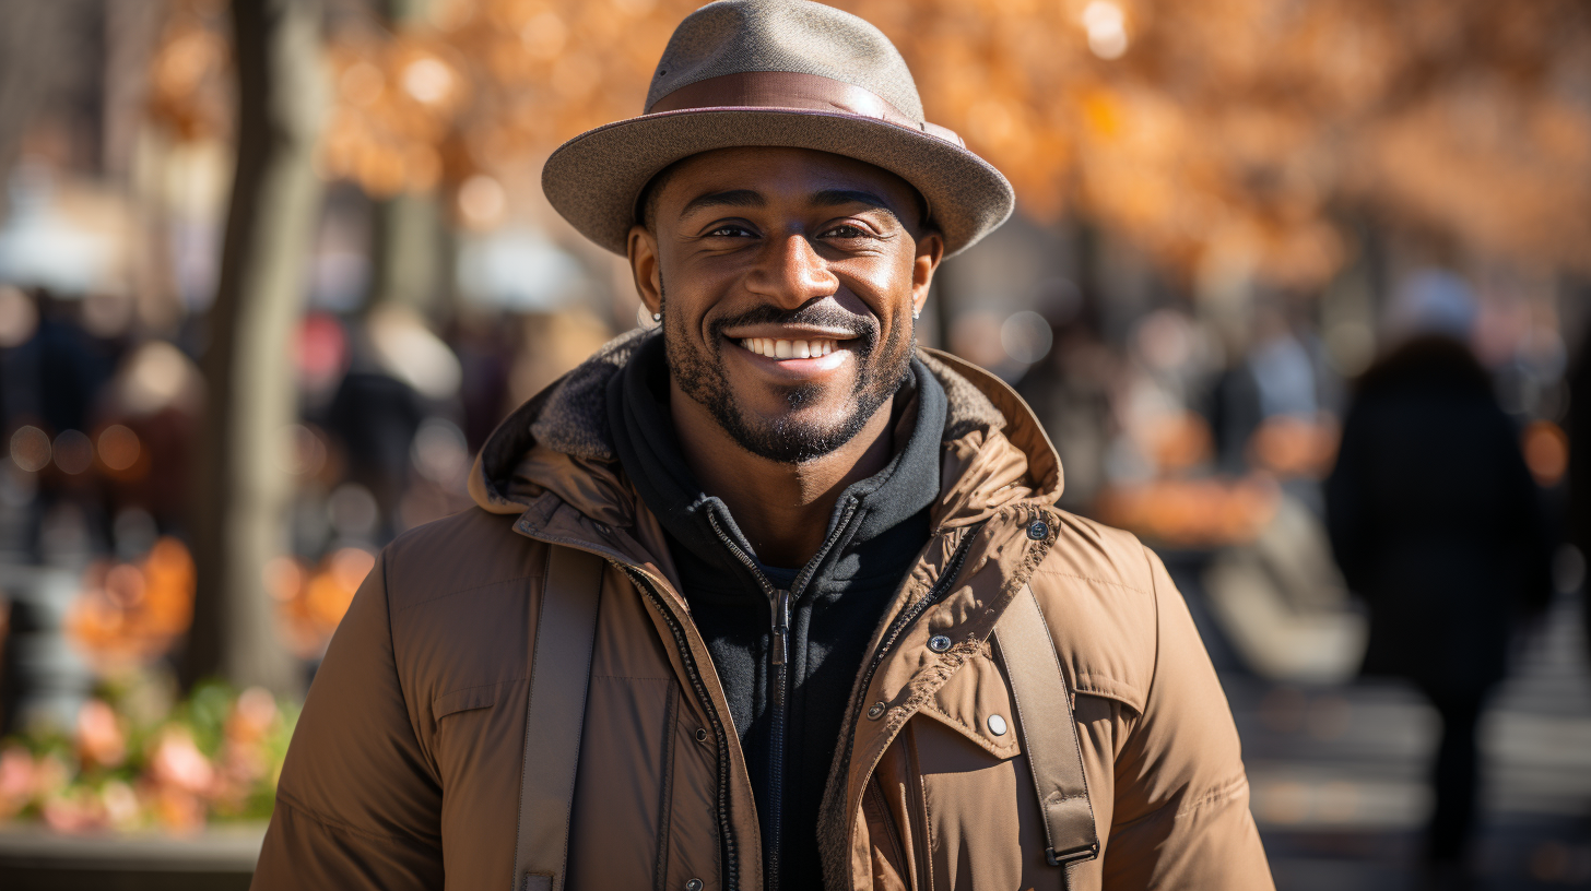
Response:
[[[1088,803],[1071,687],[1031,587],[1023,586],[1006,608],[994,625],[994,643],[1010,678],[1017,727],[1039,792],[1044,835],[1050,843],[1045,859],[1063,867],[1061,886],[1066,888],[1072,864],[1099,856],[1099,832]]]

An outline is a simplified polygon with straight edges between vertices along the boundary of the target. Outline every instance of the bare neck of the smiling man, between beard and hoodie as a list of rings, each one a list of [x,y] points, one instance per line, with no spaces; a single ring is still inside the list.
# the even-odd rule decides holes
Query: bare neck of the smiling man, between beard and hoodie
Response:
[[[889,463],[893,406],[893,398],[880,406],[845,446],[799,465],[753,455],[675,383],[668,414],[690,473],[703,492],[724,501],[757,558],[772,566],[802,566],[823,547],[845,487]]]

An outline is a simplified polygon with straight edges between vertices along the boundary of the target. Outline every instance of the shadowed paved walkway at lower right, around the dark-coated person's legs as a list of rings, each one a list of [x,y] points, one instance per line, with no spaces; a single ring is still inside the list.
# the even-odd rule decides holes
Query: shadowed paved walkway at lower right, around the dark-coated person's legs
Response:
[[[1190,590],[1190,601],[1196,597]],[[1483,719],[1480,875],[1467,888],[1591,888],[1591,668],[1581,627],[1580,597],[1562,598]],[[1426,886],[1419,827],[1438,721],[1419,695],[1397,684],[1276,686],[1236,670],[1219,641],[1212,656],[1227,668],[1279,891]]]

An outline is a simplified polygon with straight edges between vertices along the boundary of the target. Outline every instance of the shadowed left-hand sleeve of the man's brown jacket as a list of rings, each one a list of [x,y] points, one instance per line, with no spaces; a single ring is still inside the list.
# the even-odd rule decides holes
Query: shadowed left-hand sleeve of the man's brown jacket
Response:
[[[387,558],[360,586],[310,686],[253,891],[442,888],[441,786],[404,708]]]

